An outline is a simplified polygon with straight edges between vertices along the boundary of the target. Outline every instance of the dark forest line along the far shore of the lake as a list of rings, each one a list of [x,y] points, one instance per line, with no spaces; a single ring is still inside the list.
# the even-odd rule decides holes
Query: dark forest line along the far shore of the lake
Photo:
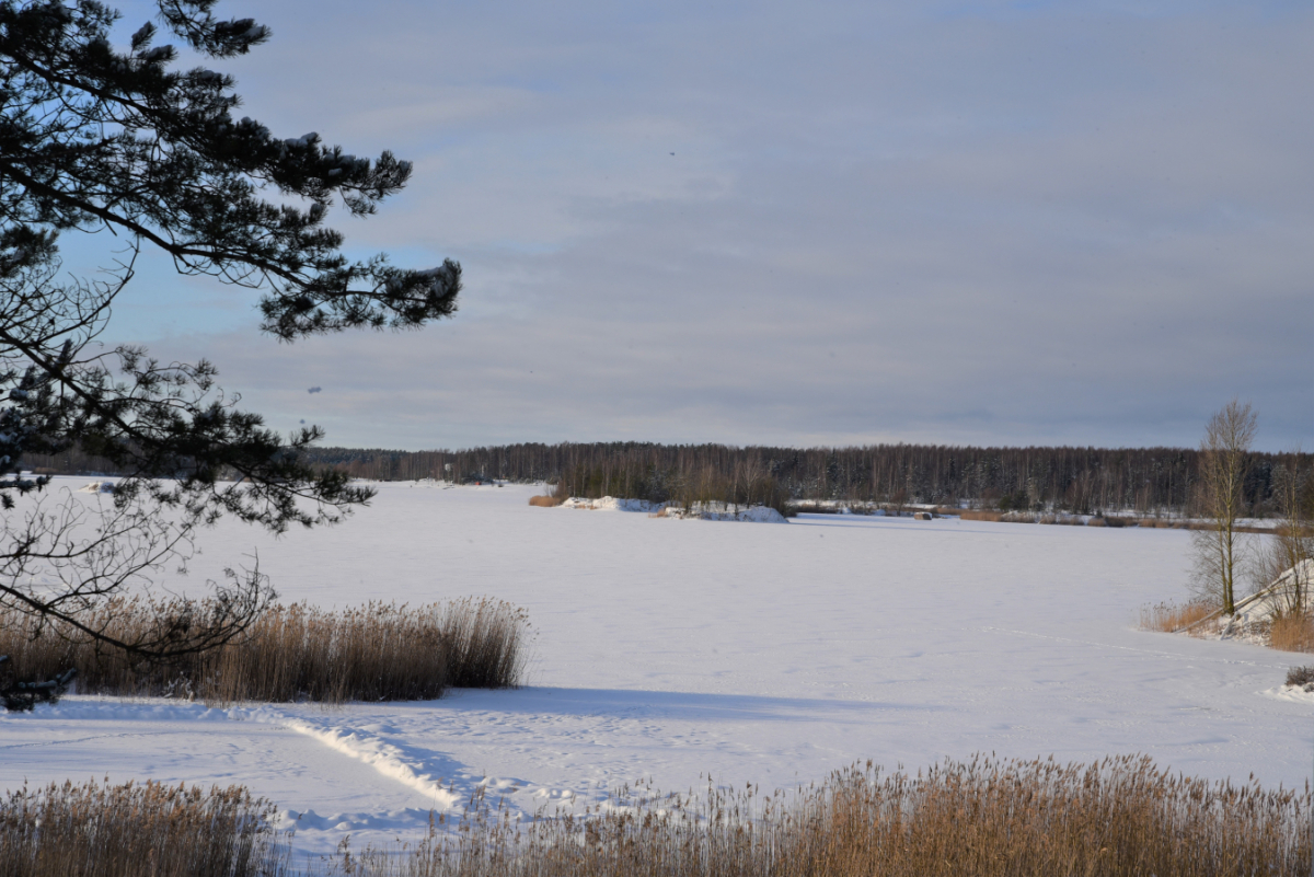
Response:
[[[794,500],[957,504],[988,508],[1189,511],[1198,452],[1185,448],[732,448],[645,442],[519,444],[466,450],[315,448],[311,463],[373,481],[434,478],[472,482],[549,482],[565,478],[574,495],[665,499],[679,486],[773,482]],[[104,473],[76,452],[32,457],[34,471]],[[1307,473],[1314,454],[1251,454],[1250,513],[1268,511],[1279,467]],[[738,492],[738,491],[736,491]]]

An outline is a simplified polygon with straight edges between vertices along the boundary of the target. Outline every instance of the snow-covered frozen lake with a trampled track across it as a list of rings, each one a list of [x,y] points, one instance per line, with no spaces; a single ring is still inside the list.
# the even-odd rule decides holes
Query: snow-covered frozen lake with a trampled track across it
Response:
[[[0,714],[0,788],[242,782],[286,813],[298,848],[327,851],[346,832],[415,836],[480,784],[532,814],[640,777],[790,788],[858,759],[916,769],[978,751],[1309,777],[1314,695],[1282,681],[1310,656],[1135,629],[1143,604],[1187,596],[1183,530],[746,526],[535,508],[522,486],[378,488],[335,529],[222,525],[173,587],[258,550],[285,600],[506,599],[535,628],[527,688],[336,709],[75,696]]]

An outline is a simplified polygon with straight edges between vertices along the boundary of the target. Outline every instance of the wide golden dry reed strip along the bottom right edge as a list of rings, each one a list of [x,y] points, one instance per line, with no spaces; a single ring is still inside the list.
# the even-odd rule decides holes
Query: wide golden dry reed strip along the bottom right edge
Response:
[[[641,790],[640,790],[641,792]],[[1310,796],[1173,776],[1148,758],[976,758],[911,776],[870,763],[795,796],[623,789],[595,814],[518,823],[485,806],[411,849],[365,849],[373,877],[1219,877],[1310,866]]]

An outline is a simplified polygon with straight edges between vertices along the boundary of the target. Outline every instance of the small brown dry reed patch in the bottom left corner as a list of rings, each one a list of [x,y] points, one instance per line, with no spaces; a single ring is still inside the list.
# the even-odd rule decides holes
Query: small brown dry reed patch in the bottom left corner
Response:
[[[273,809],[240,786],[50,785],[0,798],[5,877],[280,877]]]

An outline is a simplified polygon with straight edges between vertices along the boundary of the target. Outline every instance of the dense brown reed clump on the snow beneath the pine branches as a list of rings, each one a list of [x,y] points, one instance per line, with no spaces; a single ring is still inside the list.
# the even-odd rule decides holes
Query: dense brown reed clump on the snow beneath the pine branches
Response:
[[[173,618],[176,603],[108,601],[95,620],[131,641]],[[235,701],[430,700],[449,687],[512,688],[527,656],[526,614],[464,599],[420,607],[371,603],[346,610],[307,604],[268,609],[239,641],[170,662],[97,649],[58,625],[0,612],[0,654],[16,679],[78,670],[81,692]]]

